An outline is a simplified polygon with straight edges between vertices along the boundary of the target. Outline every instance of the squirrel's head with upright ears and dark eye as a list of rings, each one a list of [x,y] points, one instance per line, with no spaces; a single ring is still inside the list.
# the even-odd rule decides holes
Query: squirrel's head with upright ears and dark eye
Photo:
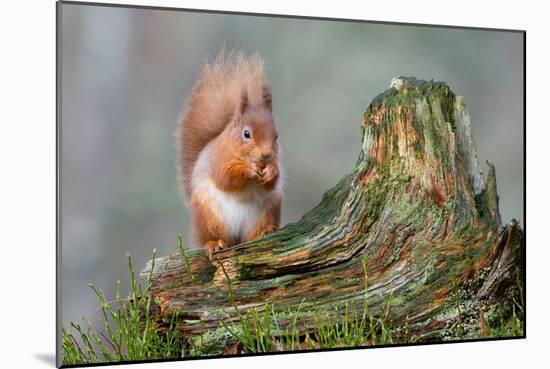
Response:
[[[264,85],[262,99],[258,105],[251,105],[248,91],[243,89],[238,111],[229,125],[230,142],[236,147],[238,157],[248,163],[264,168],[268,163],[278,161],[278,133],[273,121],[271,88]]]

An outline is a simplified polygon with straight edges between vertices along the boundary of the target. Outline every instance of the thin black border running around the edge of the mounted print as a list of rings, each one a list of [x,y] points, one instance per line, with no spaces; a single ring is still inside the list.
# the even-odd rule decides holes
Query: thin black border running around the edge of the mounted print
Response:
[[[244,16],[259,16],[269,18],[286,18],[286,19],[302,19],[302,20],[321,20],[321,21],[333,21],[333,22],[349,22],[349,23],[369,23],[369,24],[382,24],[382,25],[398,25],[398,26],[411,26],[411,27],[429,27],[429,28],[445,28],[445,29],[458,29],[458,30],[475,30],[475,31],[494,31],[494,32],[506,32],[506,33],[520,33],[523,35],[523,293],[525,298],[525,320],[523,336],[517,337],[498,337],[498,338],[476,338],[469,340],[453,340],[453,341],[440,341],[440,342],[425,342],[425,343],[401,343],[401,344],[386,344],[376,346],[364,346],[364,347],[337,347],[330,349],[315,349],[315,350],[299,350],[299,351],[284,351],[284,352],[269,352],[269,353],[245,353],[235,355],[216,355],[216,356],[198,356],[198,357],[185,357],[178,359],[152,359],[152,360],[133,360],[133,361],[115,361],[93,364],[79,364],[79,365],[61,365],[62,354],[62,342],[61,339],[61,106],[62,106],[62,94],[61,94],[61,76],[62,66],[60,58],[61,56],[61,20],[62,12],[61,5],[84,5],[95,7],[108,7],[108,8],[129,8],[129,9],[149,9],[149,10],[161,10],[161,11],[177,11],[187,13],[201,13],[201,14],[224,14],[224,15],[244,15]],[[487,28],[487,27],[468,27],[468,26],[456,26],[456,25],[441,25],[441,24],[427,24],[427,23],[403,23],[403,22],[391,22],[391,21],[374,21],[365,19],[346,19],[346,18],[329,18],[318,16],[301,16],[291,14],[268,14],[268,13],[253,13],[253,12],[238,12],[238,11],[224,11],[224,10],[210,10],[210,9],[190,9],[190,8],[176,8],[176,7],[163,7],[152,5],[132,5],[132,4],[109,4],[98,2],[81,2],[81,1],[56,1],[56,366],[58,368],[84,368],[84,367],[96,367],[107,365],[125,365],[125,364],[143,364],[143,363],[157,363],[157,362],[182,362],[189,360],[210,360],[210,359],[224,359],[235,357],[253,357],[253,356],[269,356],[269,355],[289,355],[289,354],[301,354],[301,353],[316,353],[316,352],[330,352],[330,351],[349,351],[349,350],[365,350],[365,349],[378,349],[387,347],[412,347],[412,346],[427,346],[427,345],[445,345],[454,343],[475,343],[475,342],[492,342],[492,341],[508,341],[508,340],[520,340],[527,338],[527,248],[526,248],[526,229],[527,229],[527,31],[521,29],[504,29],[504,28]]]

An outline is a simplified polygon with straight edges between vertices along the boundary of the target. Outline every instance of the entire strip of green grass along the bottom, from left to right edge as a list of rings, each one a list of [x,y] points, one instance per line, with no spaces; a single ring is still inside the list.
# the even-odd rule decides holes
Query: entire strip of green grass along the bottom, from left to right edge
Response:
[[[181,238],[178,245],[186,266],[191,273],[188,257]],[[303,314],[301,311],[306,303],[294,311],[277,311],[271,303],[261,308],[249,309],[245,312],[238,308],[235,301],[232,283],[222,266],[228,287],[228,300],[235,309],[237,320],[227,319],[220,323],[219,331],[229,338],[229,347],[222,351],[212,351],[200,335],[190,340],[181,338],[178,334],[177,316],[172,316],[168,329],[160,332],[152,311],[151,286],[153,265],[148,275],[145,287],[136,280],[136,275],[130,255],[128,267],[130,270],[130,293],[120,297],[120,282],[117,281],[115,298],[109,301],[102,290],[90,285],[95,293],[100,311],[100,327],[82,318],[83,325],[71,323],[68,329],[63,328],[63,364],[88,364],[98,362],[154,360],[181,358],[189,356],[216,355],[220,353],[265,353],[274,351],[297,351],[311,349],[326,349],[337,347],[358,347],[388,344],[417,343],[427,340],[464,339],[472,325],[465,325],[463,312],[457,303],[457,319],[447,328],[415,335],[411,334],[408,318],[402,326],[396,326],[389,320],[393,296],[386,299],[383,311],[377,316],[369,308],[367,292],[368,276],[363,259],[365,298],[361,312],[350,312],[348,304]],[[191,278],[196,283],[195,278]],[[521,284],[517,280],[523,296]],[[522,336],[524,332],[524,301],[513,300],[512,304],[498,305],[483,312],[479,324],[474,324],[473,335],[468,338],[493,338]],[[224,314],[225,311],[222,310]],[[227,315],[227,314],[226,314]],[[308,319],[305,329],[298,328],[298,318]],[[477,328],[479,327],[479,328]],[[476,336],[477,335],[477,336]]]

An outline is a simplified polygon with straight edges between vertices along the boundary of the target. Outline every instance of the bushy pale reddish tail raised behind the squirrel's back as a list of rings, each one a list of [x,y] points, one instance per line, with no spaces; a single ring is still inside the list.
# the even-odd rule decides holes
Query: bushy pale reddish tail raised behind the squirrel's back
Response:
[[[188,199],[200,152],[232,121],[242,91],[246,89],[251,105],[259,104],[263,85],[263,60],[257,54],[222,51],[203,66],[177,132],[179,182]]]

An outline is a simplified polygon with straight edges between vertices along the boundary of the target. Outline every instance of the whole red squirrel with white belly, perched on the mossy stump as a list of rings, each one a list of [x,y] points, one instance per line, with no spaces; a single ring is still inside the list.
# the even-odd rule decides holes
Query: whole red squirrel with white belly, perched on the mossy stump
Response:
[[[177,136],[193,239],[210,260],[220,249],[279,227],[281,153],[258,55],[221,52],[205,63]]]

